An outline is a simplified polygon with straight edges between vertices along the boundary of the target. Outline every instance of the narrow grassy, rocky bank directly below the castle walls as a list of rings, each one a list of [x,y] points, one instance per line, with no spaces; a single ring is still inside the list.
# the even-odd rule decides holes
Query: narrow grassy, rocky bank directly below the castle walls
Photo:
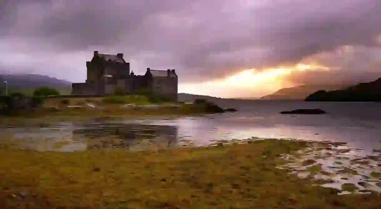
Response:
[[[156,100],[157,101],[157,100]],[[146,96],[113,96],[94,98],[45,98],[41,108],[6,112],[0,119],[1,124],[24,118],[44,120],[67,120],[69,117],[146,117],[146,116],[189,116],[207,113],[205,106],[153,102]]]

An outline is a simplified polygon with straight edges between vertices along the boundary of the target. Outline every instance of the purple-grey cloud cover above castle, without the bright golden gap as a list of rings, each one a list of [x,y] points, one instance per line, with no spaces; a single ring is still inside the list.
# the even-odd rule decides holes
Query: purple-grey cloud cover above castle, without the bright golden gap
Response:
[[[123,52],[139,69],[176,68],[182,82],[194,82],[295,63],[343,45],[378,46],[381,33],[379,0],[2,2],[0,44],[8,48],[0,55],[42,56],[46,63],[29,68],[64,79],[84,71],[94,50]],[[9,62],[0,59],[17,68]],[[62,65],[64,73],[46,70]]]

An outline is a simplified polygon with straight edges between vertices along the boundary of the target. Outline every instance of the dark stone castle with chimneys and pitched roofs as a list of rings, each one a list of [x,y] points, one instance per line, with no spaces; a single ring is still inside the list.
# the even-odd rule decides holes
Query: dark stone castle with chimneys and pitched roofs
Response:
[[[144,75],[130,72],[130,63],[123,54],[99,54],[86,62],[87,79],[84,83],[72,84],[72,95],[110,95],[116,90],[128,95],[145,91],[177,100],[178,77],[174,70],[150,70]]]

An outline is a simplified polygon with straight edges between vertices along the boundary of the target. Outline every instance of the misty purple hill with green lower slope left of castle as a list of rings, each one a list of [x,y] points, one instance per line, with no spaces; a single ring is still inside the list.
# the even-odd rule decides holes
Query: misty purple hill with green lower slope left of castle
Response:
[[[61,94],[70,94],[71,82],[43,76],[40,74],[0,74],[0,91],[5,91],[5,83],[8,83],[8,92],[23,92],[30,94],[35,88],[48,86],[55,88]]]

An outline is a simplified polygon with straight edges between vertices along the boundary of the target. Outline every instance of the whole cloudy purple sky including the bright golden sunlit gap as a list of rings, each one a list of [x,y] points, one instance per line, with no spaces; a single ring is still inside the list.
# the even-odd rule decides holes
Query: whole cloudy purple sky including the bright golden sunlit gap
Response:
[[[259,3],[260,2],[260,3]],[[380,0],[0,0],[0,73],[85,82],[93,51],[179,92],[261,97],[381,77]]]

